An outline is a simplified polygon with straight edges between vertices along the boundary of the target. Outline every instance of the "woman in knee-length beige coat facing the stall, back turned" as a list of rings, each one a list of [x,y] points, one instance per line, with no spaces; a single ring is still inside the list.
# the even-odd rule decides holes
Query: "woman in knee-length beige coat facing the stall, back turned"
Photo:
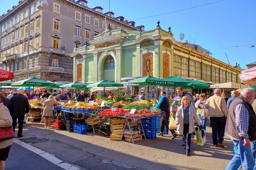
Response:
[[[56,102],[54,100],[54,96],[50,95],[47,100],[45,100],[45,103],[43,104],[43,117],[45,117],[45,128],[50,129],[51,128],[51,121],[52,117],[54,116],[54,112],[52,110],[53,105],[60,105],[59,102]]]

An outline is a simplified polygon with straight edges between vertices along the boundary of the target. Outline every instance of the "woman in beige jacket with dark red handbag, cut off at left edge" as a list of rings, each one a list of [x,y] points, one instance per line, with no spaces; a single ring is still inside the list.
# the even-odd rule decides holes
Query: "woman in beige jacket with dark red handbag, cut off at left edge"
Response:
[[[0,131],[6,128],[10,128],[10,132],[14,133],[12,130],[12,117],[10,116],[10,112],[8,108],[3,105],[2,100],[0,99]],[[9,155],[10,146],[12,145],[12,138],[6,139],[7,136],[0,135],[0,170],[4,170],[5,168],[5,160]]]

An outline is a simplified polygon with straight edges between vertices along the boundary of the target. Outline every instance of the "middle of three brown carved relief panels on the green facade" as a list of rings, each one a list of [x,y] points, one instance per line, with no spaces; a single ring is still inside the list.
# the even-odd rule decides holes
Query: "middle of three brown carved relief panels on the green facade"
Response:
[[[153,53],[143,54],[143,76],[153,76]]]

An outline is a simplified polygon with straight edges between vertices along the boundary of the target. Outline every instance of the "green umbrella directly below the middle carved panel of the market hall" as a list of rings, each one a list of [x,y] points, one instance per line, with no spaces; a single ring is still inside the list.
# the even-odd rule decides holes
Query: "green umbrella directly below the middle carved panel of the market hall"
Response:
[[[149,98],[149,85],[156,85],[156,82],[158,82],[159,80],[161,79],[152,77],[152,76],[145,76],[145,77],[140,77],[133,80],[128,80],[128,83],[135,83],[138,85],[148,85],[147,97]]]

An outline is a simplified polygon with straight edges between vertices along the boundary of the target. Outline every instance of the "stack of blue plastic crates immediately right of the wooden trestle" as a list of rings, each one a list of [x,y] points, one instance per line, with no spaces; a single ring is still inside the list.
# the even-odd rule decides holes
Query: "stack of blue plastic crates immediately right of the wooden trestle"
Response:
[[[141,122],[146,138],[156,139],[156,116],[142,119]]]

